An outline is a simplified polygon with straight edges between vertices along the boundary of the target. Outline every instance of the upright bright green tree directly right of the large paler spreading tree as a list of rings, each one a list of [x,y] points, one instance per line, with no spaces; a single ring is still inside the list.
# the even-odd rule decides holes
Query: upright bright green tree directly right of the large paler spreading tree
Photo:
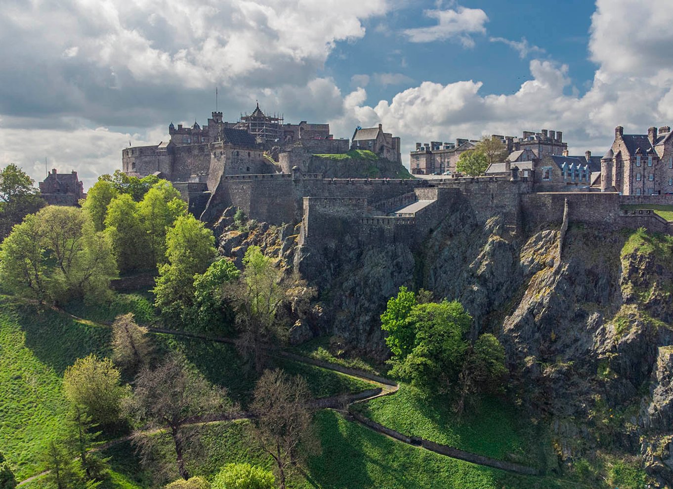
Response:
[[[120,194],[112,199],[105,217],[105,228],[120,273],[152,266],[147,256],[147,236],[138,204],[131,195]]]

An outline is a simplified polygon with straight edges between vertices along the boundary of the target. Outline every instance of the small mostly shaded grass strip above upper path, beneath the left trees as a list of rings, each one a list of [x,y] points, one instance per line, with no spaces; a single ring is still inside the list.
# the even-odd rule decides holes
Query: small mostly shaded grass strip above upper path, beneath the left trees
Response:
[[[107,304],[85,304],[83,301],[74,301],[65,305],[64,309],[77,317],[98,323],[111,323],[118,315],[128,312],[132,312],[136,322],[141,324],[151,323],[157,317],[154,296],[151,292],[116,293]]]

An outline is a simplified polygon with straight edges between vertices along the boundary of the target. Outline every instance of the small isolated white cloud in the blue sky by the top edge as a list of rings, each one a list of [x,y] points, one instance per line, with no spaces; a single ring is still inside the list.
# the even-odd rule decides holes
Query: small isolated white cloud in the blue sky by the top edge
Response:
[[[482,9],[469,9],[460,5],[455,9],[425,10],[423,14],[437,20],[437,24],[403,30],[411,42],[458,40],[464,47],[471,48],[474,40],[470,34],[485,34],[484,25],[489,21]]]

